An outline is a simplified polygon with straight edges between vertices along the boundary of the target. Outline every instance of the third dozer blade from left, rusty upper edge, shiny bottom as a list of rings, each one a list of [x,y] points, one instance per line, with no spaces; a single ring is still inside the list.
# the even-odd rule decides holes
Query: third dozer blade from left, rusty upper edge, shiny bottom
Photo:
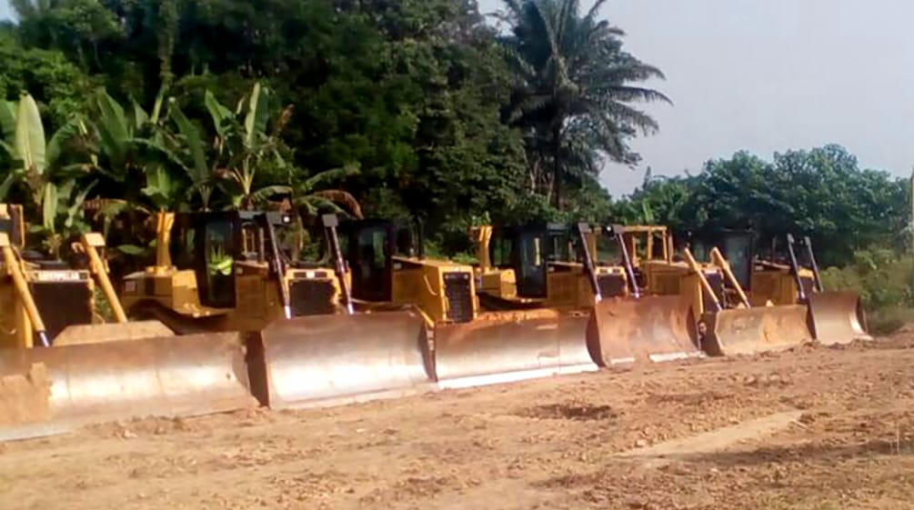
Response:
[[[435,372],[441,388],[469,388],[598,370],[581,313],[482,313],[472,323],[435,328]]]

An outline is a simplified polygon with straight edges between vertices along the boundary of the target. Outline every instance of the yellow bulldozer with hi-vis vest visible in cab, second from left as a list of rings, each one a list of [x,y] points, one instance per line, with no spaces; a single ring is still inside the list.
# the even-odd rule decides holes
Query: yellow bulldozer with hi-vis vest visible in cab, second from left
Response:
[[[251,391],[271,409],[432,388],[420,313],[356,311],[335,215],[323,218],[314,260],[293,259],[283,242],[293,219],[272,211],[160,215],[156,263],[125,277],[124,306],[181,334],[244,334]]]

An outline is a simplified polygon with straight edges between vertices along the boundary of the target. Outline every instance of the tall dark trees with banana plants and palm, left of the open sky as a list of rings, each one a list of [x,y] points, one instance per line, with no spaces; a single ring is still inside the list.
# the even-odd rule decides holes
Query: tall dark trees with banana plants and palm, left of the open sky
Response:
[[[635,84],[659,70],[575,0],[505,2],[523,17],[504,35],[473,0],[12,5],[5,98],[27,91],[48,133],[81,130],[61,134],[59,155],[84,165],[40,175],[92,183],[90,204],[133,218],[285,197],[304,213],[420,217],[452,249],[485,215],[598,219],[600,158],[631,161],[633,128],[656,127],[632,103],[663,98]],[[543,126],[561,139],[538,137]],[[39,174],[3,157],[5,199],[40,209]]]

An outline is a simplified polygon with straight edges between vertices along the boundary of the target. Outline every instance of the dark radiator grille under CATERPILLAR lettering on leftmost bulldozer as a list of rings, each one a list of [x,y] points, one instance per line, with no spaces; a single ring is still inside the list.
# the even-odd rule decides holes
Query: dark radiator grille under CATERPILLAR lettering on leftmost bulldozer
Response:
[[[29,287],[51,339],[69,325],[92,323],[89,282],[35,282]]]

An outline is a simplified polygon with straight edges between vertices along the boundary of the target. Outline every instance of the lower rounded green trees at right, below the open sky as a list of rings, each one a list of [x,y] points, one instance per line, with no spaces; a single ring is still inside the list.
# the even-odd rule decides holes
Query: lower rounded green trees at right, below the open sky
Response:
[[[907,179],[861,169],[837,145],[774,154],[773,161],[738,153],[712,160],[698,175],[648,176],[615,204],[627,222],[661,223],[680,233],[752,228],[760,242],[809,235],[824,265],[855,260],[856,250],[908,250]]]

